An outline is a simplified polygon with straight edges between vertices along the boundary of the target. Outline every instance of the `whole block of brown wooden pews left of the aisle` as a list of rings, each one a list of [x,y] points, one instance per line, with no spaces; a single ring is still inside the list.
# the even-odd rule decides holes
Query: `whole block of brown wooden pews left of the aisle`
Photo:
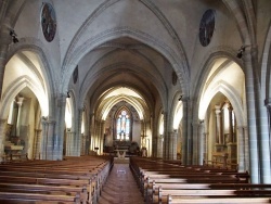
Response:
[[[52,194],[67,195],[70,201],[73,196],[74,203],[96,203],[113,165],[113,160],[99,157],[2,164],[0,192],[8,200],[16,191],[22,194],[21,202],[25,200],[24,194]]]

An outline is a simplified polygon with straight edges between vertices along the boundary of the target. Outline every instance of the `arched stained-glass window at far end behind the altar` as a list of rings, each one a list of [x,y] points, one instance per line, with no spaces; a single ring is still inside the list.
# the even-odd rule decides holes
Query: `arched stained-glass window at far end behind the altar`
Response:
[[[130,140],[130,116],[122,110],[117,118],[117,140]]]

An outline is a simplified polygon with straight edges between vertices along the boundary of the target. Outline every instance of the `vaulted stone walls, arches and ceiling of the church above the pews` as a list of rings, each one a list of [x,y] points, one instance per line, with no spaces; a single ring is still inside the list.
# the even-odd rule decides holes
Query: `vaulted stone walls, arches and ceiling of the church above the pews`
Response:
[[[254,183],[271,182],[270,0],[0,9],[1,155],[62,160],[124,146],[183,164],[225,155]]]

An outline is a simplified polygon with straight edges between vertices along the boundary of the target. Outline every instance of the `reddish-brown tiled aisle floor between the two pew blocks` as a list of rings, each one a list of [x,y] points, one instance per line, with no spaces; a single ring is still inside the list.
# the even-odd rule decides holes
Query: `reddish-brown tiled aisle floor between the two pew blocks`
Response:
[[[129,164],[114,164],[99,204],[144,204]]]

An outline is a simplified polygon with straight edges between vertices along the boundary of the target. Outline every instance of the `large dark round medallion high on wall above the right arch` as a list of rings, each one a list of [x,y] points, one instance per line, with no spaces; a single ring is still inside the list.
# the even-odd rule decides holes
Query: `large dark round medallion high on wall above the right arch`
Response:
[[[214,10],[207,10],[202,17],[199,24],[199,41],[203,47],[206,47],[210,43],[214,30],[215,30],[215,14]]]

